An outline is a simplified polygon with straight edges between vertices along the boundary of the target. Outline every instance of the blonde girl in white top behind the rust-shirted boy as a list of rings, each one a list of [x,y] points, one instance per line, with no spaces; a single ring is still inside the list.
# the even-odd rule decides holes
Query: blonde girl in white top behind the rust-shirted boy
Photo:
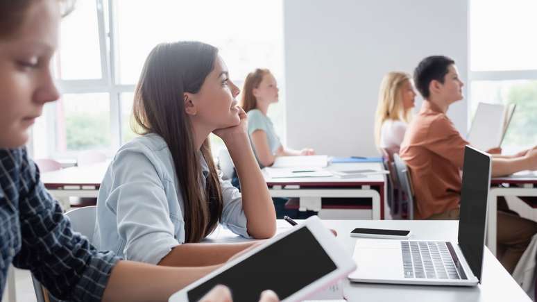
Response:
[[[399,148],[411,119],[416,92],[411,77],[404,72],[386,74],[380,84],[375,115],[375,144],[392,158]]]

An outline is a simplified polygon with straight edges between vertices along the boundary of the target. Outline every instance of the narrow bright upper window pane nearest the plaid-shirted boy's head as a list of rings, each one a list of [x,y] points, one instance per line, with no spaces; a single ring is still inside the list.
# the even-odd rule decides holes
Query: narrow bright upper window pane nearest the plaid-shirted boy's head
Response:
[[[96,1],[76,3],[76,10],[61,22],[56,76],[63,80],[101,78]]]

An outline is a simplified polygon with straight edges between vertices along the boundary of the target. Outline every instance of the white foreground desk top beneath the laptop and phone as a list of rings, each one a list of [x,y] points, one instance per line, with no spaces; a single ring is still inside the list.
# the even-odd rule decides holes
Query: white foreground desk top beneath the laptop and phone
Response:
[[[298,221],[300,223],[300,221]],[[353,228],[395,228],[409,229],[411,240],[451,240],[457,241],[458,221],[426,221],[426,220],[325,220],[327,228],[337,231],[337,239],[344,249],[352,255],[354,237],[348,234]],[[278,233],[289,229],[286,221],[278,220]],[[217,228],[207,242],[241,242],[245,239],[232,234],[229,230]],[[425,285],[388,285],[343,282],[343,294],[348,301],[527,301],[527,294],[511,278],[500,262],[485,249],[483,276],[477,287],[450,287]]]

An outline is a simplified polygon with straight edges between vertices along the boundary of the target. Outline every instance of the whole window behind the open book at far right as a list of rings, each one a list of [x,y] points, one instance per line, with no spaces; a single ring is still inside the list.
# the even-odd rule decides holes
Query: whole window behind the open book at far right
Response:
[[[470,110],[516,103],[504,153],[537,143],[537,1],[470,1]]]

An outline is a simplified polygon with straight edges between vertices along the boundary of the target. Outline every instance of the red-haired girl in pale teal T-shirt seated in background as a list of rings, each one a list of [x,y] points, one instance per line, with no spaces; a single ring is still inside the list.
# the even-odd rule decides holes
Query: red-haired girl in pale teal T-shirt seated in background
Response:
[[[278,102],[278,83],[269,69],[255,69],[246,76],[241,107],[248,113],[248,135],[252,141],[255,157],[261,167],[269,167],[276,156],[311,156],[313,149],[296,151],[286,148],[276,135],[266,112],[272,103]]]

